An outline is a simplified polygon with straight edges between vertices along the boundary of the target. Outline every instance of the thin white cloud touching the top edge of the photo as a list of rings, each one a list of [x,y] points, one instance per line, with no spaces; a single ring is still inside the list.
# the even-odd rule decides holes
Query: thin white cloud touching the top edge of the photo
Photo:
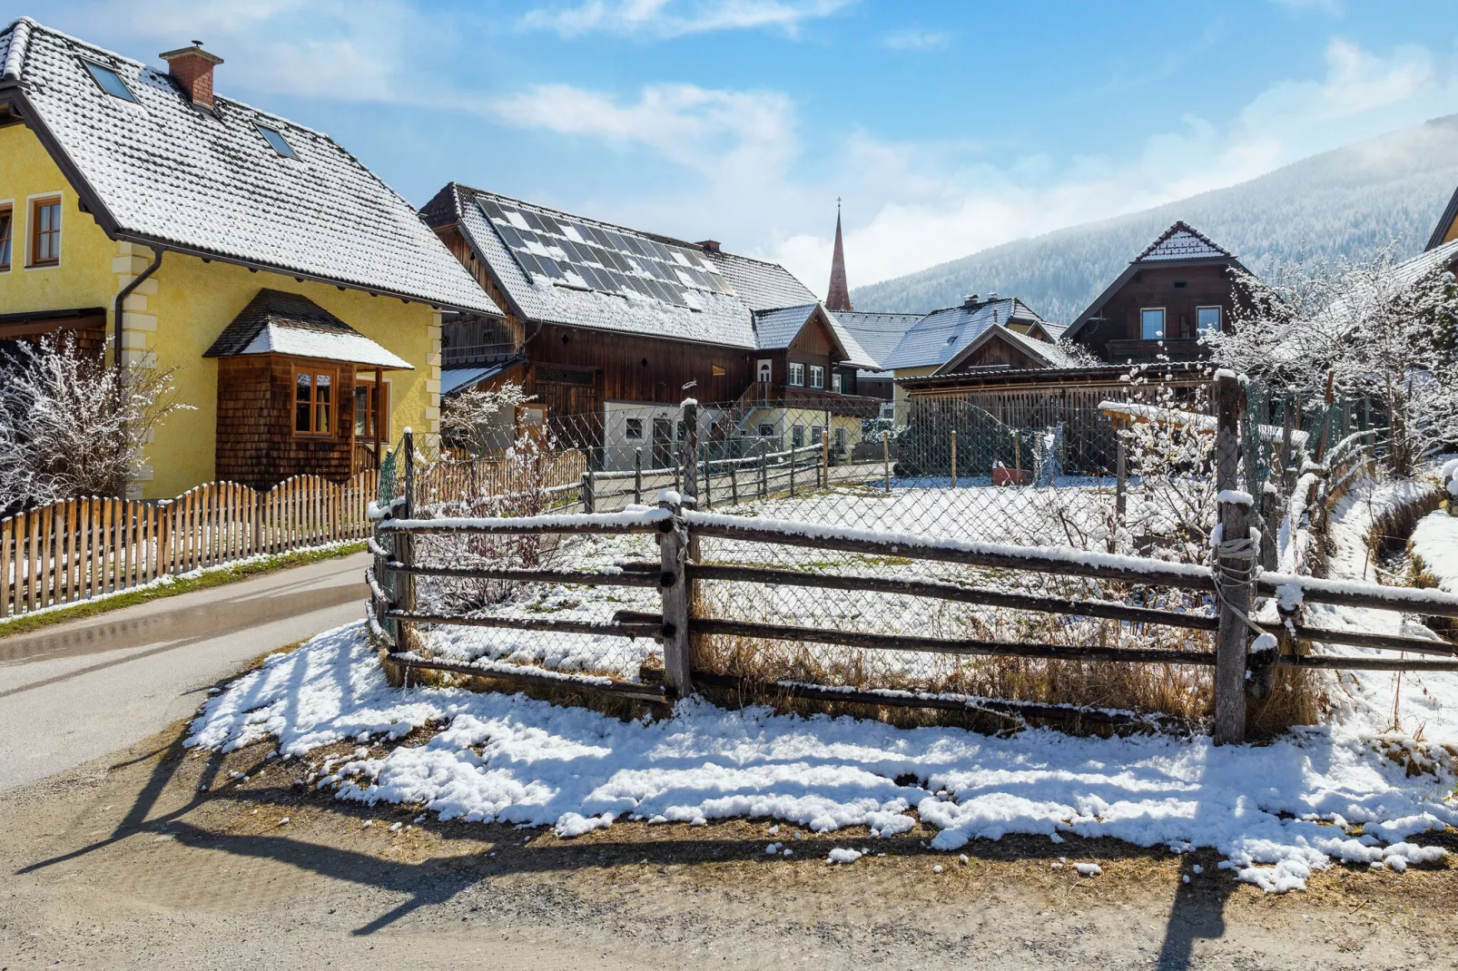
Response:
[[[554,31],[563,38],[602,32],[669,39],[763,28],[777,28],[793,36],[803,22],[827,17],[850,3],[853,0],[585,0],[570,7],[529,10],[519,26]]]

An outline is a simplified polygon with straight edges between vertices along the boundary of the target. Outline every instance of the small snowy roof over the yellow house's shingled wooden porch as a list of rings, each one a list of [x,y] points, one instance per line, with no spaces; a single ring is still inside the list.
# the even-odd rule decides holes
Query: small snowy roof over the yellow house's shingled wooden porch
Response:
[[[260,290],[223,328],[203,357],[292,354],[351,364],[414,370],[401,359],[309,297],[283,290]]]

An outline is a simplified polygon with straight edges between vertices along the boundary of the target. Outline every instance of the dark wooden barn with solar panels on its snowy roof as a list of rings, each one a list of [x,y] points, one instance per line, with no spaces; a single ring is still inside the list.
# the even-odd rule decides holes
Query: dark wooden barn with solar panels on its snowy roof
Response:
[[[868,407],[856,372],[876,362],[783,267],[455,182],[421,217],[506,316],[445,321],[442,392],[521,381],[558,440],[605,467],[663,452],[684,398],[719,439],[773,424],[789,440],[771,401]]]

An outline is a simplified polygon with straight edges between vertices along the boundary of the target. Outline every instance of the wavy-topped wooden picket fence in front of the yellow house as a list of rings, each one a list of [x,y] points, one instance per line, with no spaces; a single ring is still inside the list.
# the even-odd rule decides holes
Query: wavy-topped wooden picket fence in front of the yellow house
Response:
[[[0,618],[260,554],[363,539],[379,488],[297,475],[268,491],[207,483],[176,499],[70,499],[0,519]]]

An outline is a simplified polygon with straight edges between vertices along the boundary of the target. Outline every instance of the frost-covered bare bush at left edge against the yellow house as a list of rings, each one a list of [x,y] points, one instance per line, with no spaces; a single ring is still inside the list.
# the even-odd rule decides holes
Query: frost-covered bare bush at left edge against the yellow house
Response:
[[[120,497],[174,411],[174,372],[108,367],[69,335],[12,341],[0,363],[0,507]]]

